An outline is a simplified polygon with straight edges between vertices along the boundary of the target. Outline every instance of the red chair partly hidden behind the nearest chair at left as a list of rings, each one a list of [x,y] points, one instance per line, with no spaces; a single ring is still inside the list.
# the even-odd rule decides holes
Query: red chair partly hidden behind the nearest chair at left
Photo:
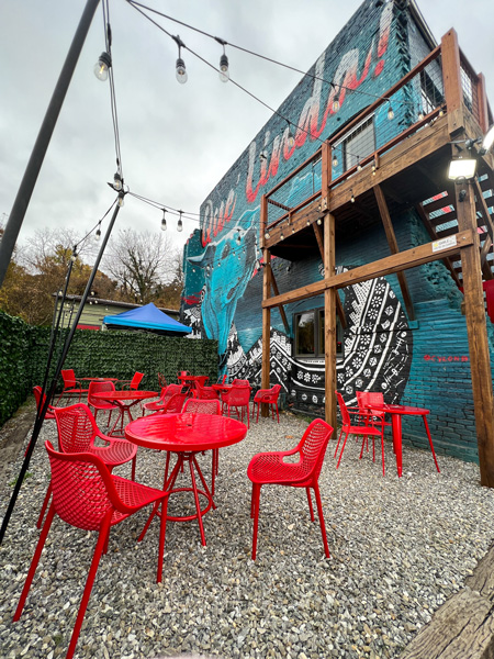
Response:
[[[126,439],[115,439],[103,435],[91,410],[85,403],[76,403],[69,407],[55,407],[55,420],[58,429],[58,449],[66,454],[88,453],[100,458],[111,472],[114,467],[132,460],[132,480],[135,479],[135,461],[137,446]],[[105,446],[96,446],[94,442],[104,442]],[[45,500],[36,522],[41,528],[46,506],[52,494],[52,483],[46,491]]]

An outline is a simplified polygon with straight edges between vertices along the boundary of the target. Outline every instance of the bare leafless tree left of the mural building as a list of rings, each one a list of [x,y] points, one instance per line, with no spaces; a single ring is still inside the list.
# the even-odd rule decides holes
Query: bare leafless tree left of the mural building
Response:
[[[124,228],[110,239],[103,267],[117,281],[123,298],[146,304],[173,280],[176,252],[161,233]]]

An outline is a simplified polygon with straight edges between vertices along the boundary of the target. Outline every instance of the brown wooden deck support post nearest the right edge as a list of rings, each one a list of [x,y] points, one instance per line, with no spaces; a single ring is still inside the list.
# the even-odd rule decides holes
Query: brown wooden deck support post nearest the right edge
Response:
[[[464,199],[460,201],[460,194]],[[473,405],[475,414],[476,442],[481,484],[494,488],[494,403],[485,320],[482,275],[476,232],[476,212],[473,186],[469,181],[457,182],[458,228],[472,230],[474,241],[469,247],[461,247],[463,271],[464,309],[472,375]],[[460,402],[461,404],[461,402]]]

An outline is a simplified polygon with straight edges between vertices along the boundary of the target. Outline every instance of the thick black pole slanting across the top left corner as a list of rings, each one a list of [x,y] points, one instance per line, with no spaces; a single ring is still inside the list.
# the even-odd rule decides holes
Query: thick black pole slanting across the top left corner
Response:
[[[52,100],[49,101],[48,109],[46,110],[45,119],[43,120],[40,133],[34,144],[33,153],[31,154],[30,161],[25,168],[24,177],[21,181],[21,186],[10,212],[2,239],[0,241],[0,288],[3,283],[3,279],[5,278],[7,268],[9,267],[10,259],[12,258],[12,253],[24,221],[25,212],[30,204],[34,186],[36,185],[40,169],[43,165],[49,141],[52,139],[52,134],[55,130],[55,124],[57,123],[58,114],[60,113],[61,105],[64,104],[65,94],[67,93],[67,89],[70,85],[77,60],[79,59],[82,45],[86,41],[86,36],[99,1],[100,0],[88,0],[86,3],[85,11],[82,12],[76,34],[74,35],[72,43],[53,92]]]

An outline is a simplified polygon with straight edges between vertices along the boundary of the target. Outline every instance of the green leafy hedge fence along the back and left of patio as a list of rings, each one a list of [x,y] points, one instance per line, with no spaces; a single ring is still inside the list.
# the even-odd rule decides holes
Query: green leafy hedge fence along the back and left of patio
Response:
[[[25,401],[34,384],[43,383],[49,336],[49,327],[32,327],[0,312],[0,425]],[[130,380],[135,371],[141,371],[144,378],[139,389],[156,391],[159,391],[158,372],[167,382],[176,382],[179,370],[209,376],[215,382],[217,342],[144,332],[78,330],[64,368],[74,368],[76,377],[121,380]]]

